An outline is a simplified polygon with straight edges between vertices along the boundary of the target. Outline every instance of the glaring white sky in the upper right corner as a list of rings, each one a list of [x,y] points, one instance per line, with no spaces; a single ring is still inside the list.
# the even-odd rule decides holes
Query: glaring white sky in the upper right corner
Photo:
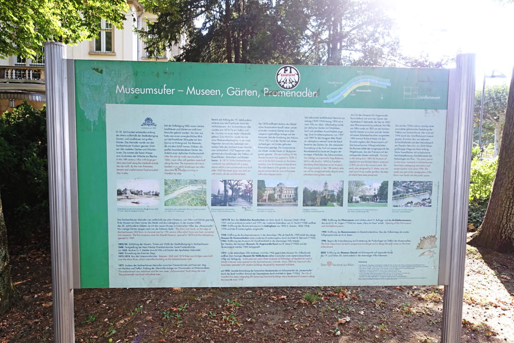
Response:
[[[388,0],[393,10],[402,51],[432,59],[454,57],[457,52],[476,53],[476,79],[482,85],[484,72],[497,69],[506,79],[488,79],[487,83],[508,82],[514,65],[511,43],[514,4],[500,0]]]

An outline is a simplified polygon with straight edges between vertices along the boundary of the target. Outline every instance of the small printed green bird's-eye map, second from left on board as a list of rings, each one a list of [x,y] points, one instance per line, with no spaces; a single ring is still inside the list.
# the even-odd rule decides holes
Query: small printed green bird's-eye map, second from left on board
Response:
[[[207,180],[165,179],[164,206],[207,206]]]

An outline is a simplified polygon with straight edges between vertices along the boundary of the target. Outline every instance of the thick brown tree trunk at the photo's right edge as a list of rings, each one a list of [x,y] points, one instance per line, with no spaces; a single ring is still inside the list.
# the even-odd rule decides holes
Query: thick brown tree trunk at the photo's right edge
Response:
[[[502,147],[484,222],[469,244],[514,252],[514,78],[507,101]]]

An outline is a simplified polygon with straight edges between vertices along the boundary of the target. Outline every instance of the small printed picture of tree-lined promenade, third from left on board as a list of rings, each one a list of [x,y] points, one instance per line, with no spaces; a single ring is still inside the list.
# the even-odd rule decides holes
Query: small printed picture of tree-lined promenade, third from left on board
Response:
[[[211,206],[252,206],[253,180],[212,180]]]

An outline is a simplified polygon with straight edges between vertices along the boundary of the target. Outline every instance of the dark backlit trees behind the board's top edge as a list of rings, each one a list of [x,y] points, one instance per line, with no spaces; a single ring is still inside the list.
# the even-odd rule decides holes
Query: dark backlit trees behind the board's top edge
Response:
[[[149,56],[181,44],[176,61],[385,65],[399,56],[378,0],[142,0],[158,14],[138,30]],[[183,40],[185,38],[185,40]]]

